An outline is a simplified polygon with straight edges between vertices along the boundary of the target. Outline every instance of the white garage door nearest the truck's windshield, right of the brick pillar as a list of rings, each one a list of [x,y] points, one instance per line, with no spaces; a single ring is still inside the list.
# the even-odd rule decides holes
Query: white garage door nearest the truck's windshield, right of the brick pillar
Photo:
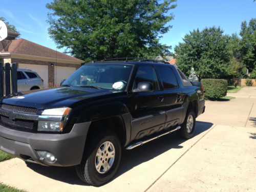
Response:
[[[55,86],[59,86],[63,79],[67,79],[76,68],[69,67],[55,67]]]

